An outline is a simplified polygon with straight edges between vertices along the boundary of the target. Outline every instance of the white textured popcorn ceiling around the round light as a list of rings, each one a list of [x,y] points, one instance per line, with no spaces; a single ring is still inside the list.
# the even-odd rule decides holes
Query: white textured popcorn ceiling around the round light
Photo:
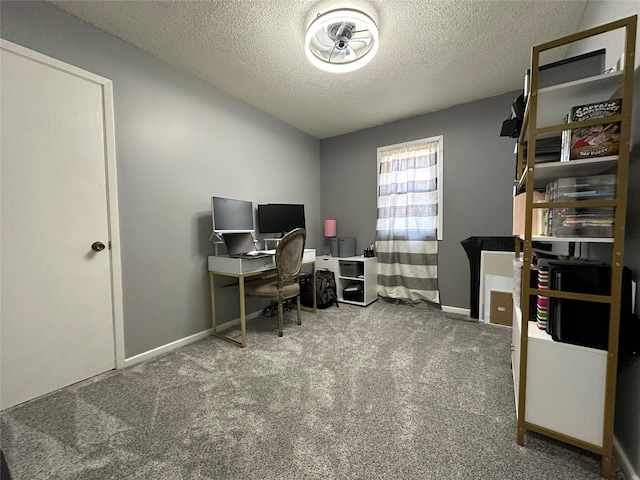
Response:
[[[322,139],[522,88],[531,47],[575,32],[587,2],[51,3]],[[323,72],[305,56],[306,29],[344,7],[376,21],[380,49],[360,70]]]

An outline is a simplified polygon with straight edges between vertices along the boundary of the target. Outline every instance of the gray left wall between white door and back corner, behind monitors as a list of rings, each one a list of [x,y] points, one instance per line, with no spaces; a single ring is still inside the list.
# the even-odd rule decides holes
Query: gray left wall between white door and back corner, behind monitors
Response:
[[[318,140],[50,4],[0,6],[2,38],[113,81],[127,358],[211,327],[212,195],[304,203],[320,246]]]

